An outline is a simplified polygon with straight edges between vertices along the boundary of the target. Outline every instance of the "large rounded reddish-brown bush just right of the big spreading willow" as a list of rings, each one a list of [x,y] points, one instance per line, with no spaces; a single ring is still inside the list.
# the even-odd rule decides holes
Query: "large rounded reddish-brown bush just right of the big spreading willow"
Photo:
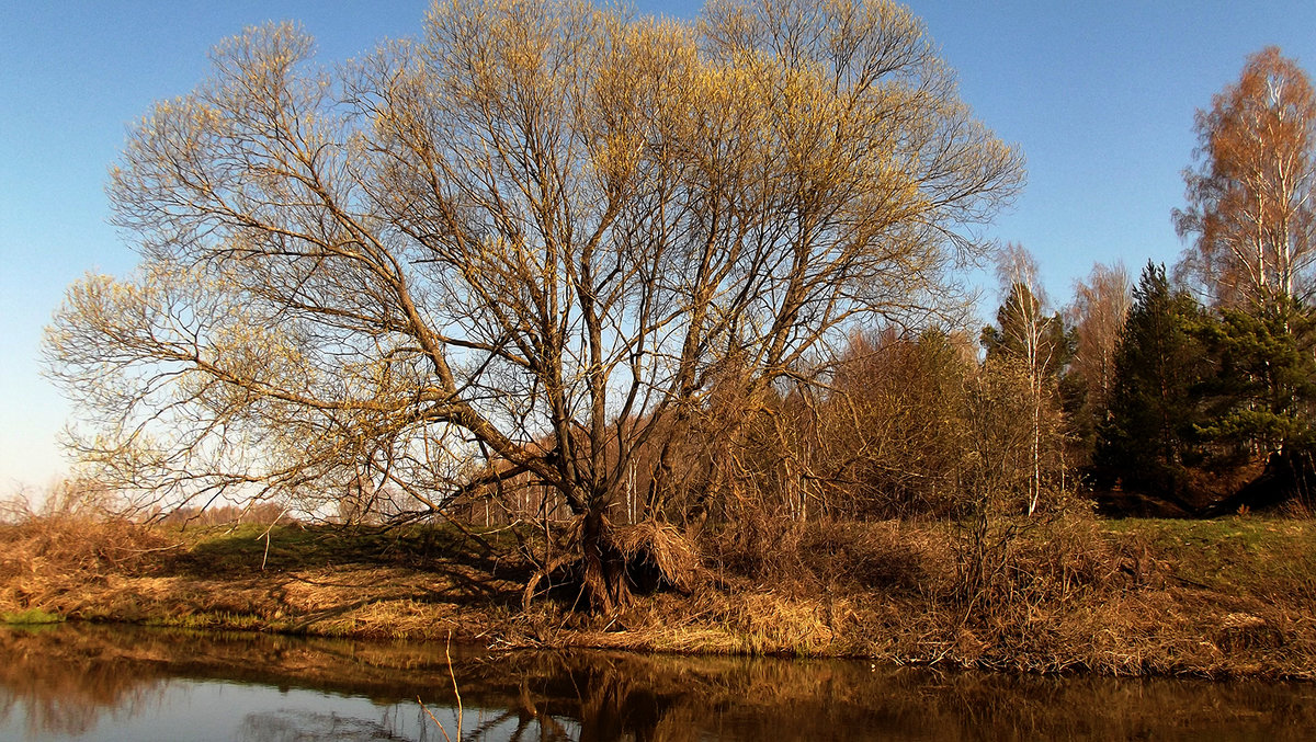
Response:
[[[759,421],[753,485],[795,514],[892,518],[945,513],[957,495],[962,337],[855,333]]]

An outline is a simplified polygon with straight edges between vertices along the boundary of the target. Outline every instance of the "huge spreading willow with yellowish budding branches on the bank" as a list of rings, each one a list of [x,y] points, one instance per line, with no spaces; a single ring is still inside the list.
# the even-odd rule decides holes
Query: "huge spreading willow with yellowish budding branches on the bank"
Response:
[[[75,447],[174,501],[441,510],[529,479],[576,516],[600,609],[629,596],[609,509],[637,451],[663,451],[662,518],[711,389],[936,308],[1021,178],[891,3],[447,0],[343,67],[312,50],[250,29],[133,128],[109,192],[141,267],[71,287],[49,332]]]

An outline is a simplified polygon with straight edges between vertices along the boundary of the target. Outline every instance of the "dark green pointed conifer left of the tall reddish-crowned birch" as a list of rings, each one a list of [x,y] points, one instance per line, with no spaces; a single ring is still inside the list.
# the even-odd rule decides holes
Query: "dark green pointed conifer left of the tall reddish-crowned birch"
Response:
[[[1120,333],[1109,412],[1098,428],[1098,482],[1180,500],[1187,466],[1196,463],[1195,387],[1204,354],[1194,328],[1204,314],[1184,291],[1173,291],[1165,266],[1150,262],[1133,289],[1133,307]]]

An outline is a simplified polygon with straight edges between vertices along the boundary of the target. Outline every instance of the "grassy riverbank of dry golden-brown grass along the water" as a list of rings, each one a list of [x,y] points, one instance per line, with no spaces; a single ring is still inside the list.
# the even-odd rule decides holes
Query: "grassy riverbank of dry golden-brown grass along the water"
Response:
[[[772,524],[704,534],[684,593],[521,608],[511,532],[0,529],[0,614],[490,647],[867,656],[1029,672],[1316,679],[1316,524],[1063,517]],[[986,566],[965,589],[966,556]]]

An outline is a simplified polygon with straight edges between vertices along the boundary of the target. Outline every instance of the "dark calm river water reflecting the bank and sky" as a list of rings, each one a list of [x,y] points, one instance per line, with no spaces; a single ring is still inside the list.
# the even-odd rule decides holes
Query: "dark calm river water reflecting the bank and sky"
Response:
[[[1316,685],[0,626],[4,741],[455,741],[458,729],[488,742],[1274,742],[1316,738]]]

